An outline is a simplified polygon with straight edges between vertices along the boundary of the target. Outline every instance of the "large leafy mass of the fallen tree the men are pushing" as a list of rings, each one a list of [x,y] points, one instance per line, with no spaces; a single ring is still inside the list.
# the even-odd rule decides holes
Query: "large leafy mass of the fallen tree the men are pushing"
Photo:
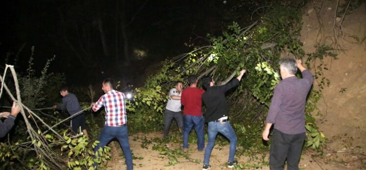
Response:
[[[243,81],[227,93],[230,119],[243,149],[264,148],[261,132],[274,87],[280,81],[277,71],[280,56],[295,56],[309,63],[329,56],[332,50],[320,46],[323,53],[306,54],[301,49],[302,43],[297,39],[301,30],[299,7],[274,6],[259,21],[244,28],[233,22],[222,36],[207,35],[209,45],[195,47],[189,53],[164,61],[160,72],[136,89],[135,101],[129,106],[134,112],[129,115],[133,123],[130,127],[144,131],[161,129],[167,92],[176,81],[185,83],[192,74],[210,75],[219,85],[245,68],[248,71]],[[319,91],[312,89],[306,109],[306,146],[313,148],[319,148],[325,141],[311,115],[318,110],[316,102],[320,97]]]

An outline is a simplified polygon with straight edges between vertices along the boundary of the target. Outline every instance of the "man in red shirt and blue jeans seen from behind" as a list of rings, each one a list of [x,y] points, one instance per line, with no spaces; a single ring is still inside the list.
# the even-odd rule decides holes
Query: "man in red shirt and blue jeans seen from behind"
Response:
[[[194,127],[197,133],[197,149],[203,151],[205,149],[205,131],[204,117],[202,115],[202,94],[205,90],[197,88],[197,76],[188,77],[189,87],[182,91],[181,103],[183,109],[183,151],[188,149],[188,135]]]

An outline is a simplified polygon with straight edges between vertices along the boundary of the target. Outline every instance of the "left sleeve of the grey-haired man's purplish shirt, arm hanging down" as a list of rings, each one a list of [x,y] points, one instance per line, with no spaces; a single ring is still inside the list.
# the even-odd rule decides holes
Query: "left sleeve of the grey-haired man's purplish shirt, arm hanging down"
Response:
[[[272,124],[276,123],[276,117],[278,115],[278,112],[280,111],[280,106],[283,100],[282,95],[283,95],[282,88],[280,85],[277,85],[274,88],[274,95],[272,97],[270,109],[268,110],[266,123],[272,123]]]

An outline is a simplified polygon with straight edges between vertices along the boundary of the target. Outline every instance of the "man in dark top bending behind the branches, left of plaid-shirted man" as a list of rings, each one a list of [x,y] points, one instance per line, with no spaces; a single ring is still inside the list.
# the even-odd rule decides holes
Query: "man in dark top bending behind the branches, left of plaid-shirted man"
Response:
[[[68,110],[70,115],[78,113],[82,110],[79,101],[77,100],[77,97],[75,96],[75,94],[69,93],[68,87],[61,87],[60,94],[63,97],[62,105],[55,105],[53,106],[53,108],[57,108],[59,110]],[[80,113],[79,115],[71,119],[71,130],[74,133],[78,133],[78,129],[79,127],[81,127],[81,130],[83,131],[85,136],[88,137],[87,126],[85,125],[85,122],[86,120],[84,113]]]

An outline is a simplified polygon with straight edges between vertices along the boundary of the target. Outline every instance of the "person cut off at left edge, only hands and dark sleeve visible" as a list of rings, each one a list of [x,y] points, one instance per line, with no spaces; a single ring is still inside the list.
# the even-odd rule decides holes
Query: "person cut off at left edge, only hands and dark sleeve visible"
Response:
[[[9,112],[1,112],[0,118],[4,117],[4,122],[0,120],[0,138],[4,137],[10,129],[14,126],[15,118],[17,117],[18,113],[21,111],[21,107],[16,105],[15,102],[13,102],[13,106],[11,107],[11,113]]]

